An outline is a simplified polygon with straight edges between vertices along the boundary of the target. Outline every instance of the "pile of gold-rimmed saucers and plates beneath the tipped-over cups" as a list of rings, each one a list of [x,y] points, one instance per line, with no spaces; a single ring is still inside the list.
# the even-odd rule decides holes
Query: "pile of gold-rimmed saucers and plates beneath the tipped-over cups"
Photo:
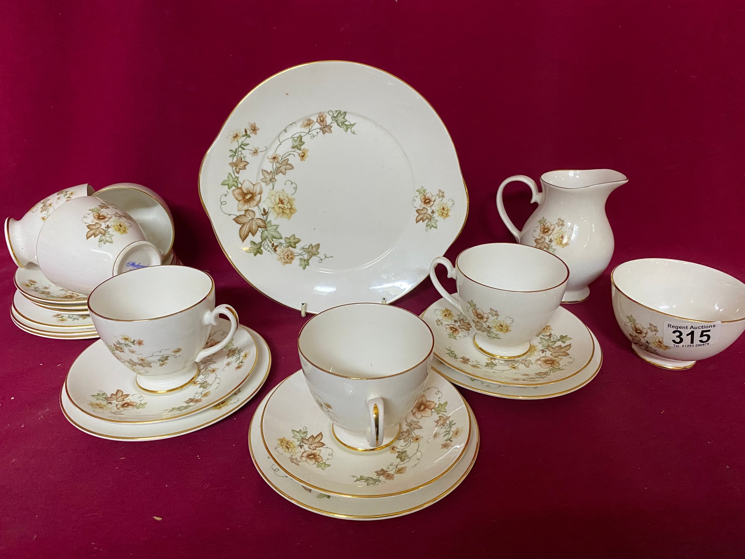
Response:
[[[183,265],[173,251],[163,264]],[[54,339],[98,338],[87,295],[54,285],[35,264],[16,269],[13,282],[10,318],[24,332]]]

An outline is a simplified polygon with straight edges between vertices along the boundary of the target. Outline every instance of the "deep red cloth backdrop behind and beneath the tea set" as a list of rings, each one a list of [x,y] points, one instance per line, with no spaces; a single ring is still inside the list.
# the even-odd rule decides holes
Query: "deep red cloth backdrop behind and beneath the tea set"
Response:
[[[271,347],[259,395],[215,426],[118,443],[71,426],[58,396],[89,341],[0,323],[0,556],[736,557],[745,547],[742,360],[671,372],[645,364],[613,318],[609,271],[693,260],[745,279],[745,18],[736,1],[101,1],[3,4],[4,215],[90,182],[142,183],[173,209],[176,250],[208,270]],[[609,167],[615,256],[571,306],[605,352],[574,394],[513,401],[465,392],[481,424],[470,476],[437,505],[379,523],[320,517],[276,495],[246,435],[259,399],[299,368],[298,312],[227,262],[197,172],[230,110],[310,60],[378,66],[442,116],[469,187],[448,256],[511,241],[494,195],[510,174]],[[517,224],[527,189],[507,192]],[[4,215],[0,217],[4,218]],[[0,257],[5,304],[13,264]],[[447,284],[446,284],[447,285]],[[422,282],[397,304],[437,298]],[[153,517],[162,517],[161,521]],[[344,555],[340,555],[344,554]]]

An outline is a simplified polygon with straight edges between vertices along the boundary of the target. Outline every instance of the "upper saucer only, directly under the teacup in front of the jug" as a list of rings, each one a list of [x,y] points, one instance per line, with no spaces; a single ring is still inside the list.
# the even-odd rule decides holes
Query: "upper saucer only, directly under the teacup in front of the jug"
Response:
[[[433,303],[422,319],[434,333],[434,355],[455,370],[495,385],[542,386],[582,373],[595,354],[587,326],[559,307],[548,324],[530,341],[527,354],[499,359],[475,345],[475,327],[445,299]]]

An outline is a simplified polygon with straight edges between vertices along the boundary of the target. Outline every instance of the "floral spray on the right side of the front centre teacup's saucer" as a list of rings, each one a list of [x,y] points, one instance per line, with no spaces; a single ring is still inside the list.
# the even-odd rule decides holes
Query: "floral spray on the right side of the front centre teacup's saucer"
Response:
[[[437,401],[429,399],[428,394]],[[455,421],[448,414],[448,402],[440,401],[442,397],[443,393],[437,387],[427,388],[404,419],[401,432],[396,438],[396,441],[401,442],[391,446],[388,450],[390,454],[396,455],[396,459],[379,470],[375,470],[373,476],[355,476],[355,481],[364,482],[365,485],[384,484],[419,464],[419,459],[422,457],[422,451],[419,448],[422,444],[430,444],[434,441],[440,443],[443,449],[453,446],[454,439],[463,435],[463,429],[455,426]],[[424,435],[431,432],[433,427],[434,432],[431,437],[424,440]]]

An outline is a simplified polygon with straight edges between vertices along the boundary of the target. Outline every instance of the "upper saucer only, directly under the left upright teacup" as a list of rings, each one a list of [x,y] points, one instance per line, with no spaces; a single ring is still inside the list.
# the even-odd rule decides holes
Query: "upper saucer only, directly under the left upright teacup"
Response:
[[[230,329],[223,318],[212,326],[208,347],[221,341]],[[121,359],[127,358],[122,348]],[[225,349],[202,359],[197,378],[188,388],[168,394],[141,394],[136,375],[121,364],[104,341],[88,347],[70,367],[65,391],[83,413],[112,423],[156,423],[209,408],[243,384],[256,364],[256,342],[239,325]],[[154,360],[153,360],[154,361]]]

